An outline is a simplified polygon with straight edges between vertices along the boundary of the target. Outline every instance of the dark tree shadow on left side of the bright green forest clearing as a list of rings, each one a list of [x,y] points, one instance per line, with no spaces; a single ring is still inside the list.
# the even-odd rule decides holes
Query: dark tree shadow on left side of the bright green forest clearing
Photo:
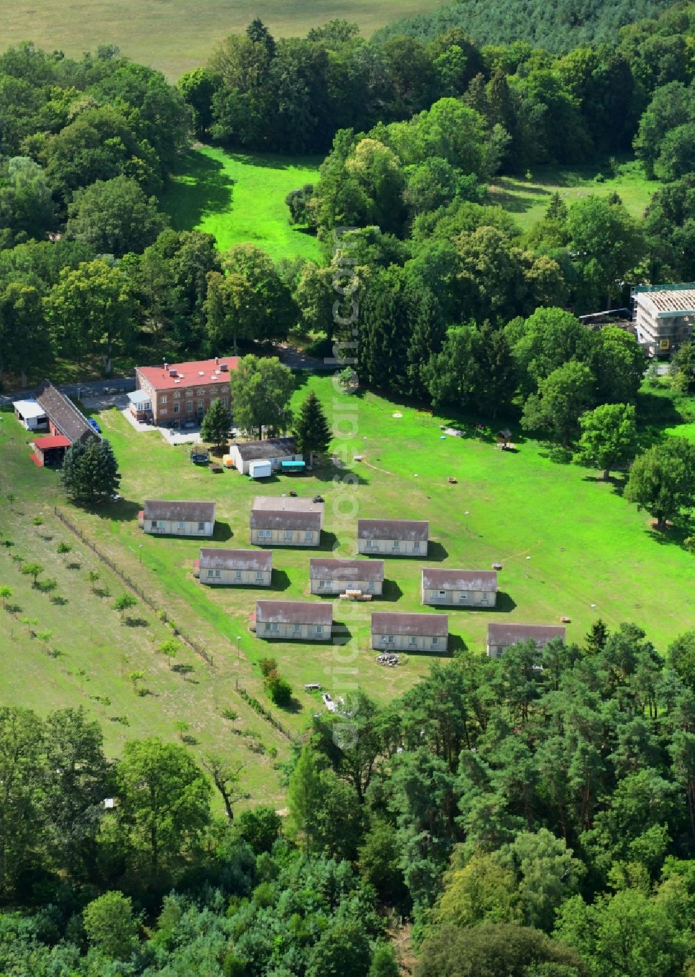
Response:
[[[176,181],[161,197],[174,231],[192,231],[207,215],[229,210],[234,184],[219,160],[195,150],[187,152]]]

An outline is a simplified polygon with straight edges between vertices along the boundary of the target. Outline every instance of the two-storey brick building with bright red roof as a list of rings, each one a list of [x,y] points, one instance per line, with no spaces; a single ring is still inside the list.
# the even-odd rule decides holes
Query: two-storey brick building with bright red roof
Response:
[[[150,395],[147,410],[155,424],[187,418],[201,418],[218,398],[231,405],[230,372],[237,369],[237,357],[215,357],[186,363],[162,363],[161,366],[138,366],[135,382],[139,390]]]

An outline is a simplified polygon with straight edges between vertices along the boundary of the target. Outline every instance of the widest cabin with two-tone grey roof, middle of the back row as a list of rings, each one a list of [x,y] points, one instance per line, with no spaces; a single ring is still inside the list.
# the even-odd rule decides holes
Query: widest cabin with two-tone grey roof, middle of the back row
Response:
[[[324,503],[291,495],[256,495],[249,519],[256,546],[319,546]]]

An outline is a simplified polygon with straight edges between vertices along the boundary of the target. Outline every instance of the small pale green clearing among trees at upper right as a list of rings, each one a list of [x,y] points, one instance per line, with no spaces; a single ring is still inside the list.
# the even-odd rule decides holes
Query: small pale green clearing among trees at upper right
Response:
[[[597,176],[603,177],[597,181]],[[568,206],[589,194],[620,194],[633,217],[641,218],[659,184],[647,180],[641,165],[635,161],[619,164],[617,175],[610,166],[537,166],[531,179],[500,177],[491,185],[491,199],[512,213],[523,231],[539,221],[550,201],[559,192]]]

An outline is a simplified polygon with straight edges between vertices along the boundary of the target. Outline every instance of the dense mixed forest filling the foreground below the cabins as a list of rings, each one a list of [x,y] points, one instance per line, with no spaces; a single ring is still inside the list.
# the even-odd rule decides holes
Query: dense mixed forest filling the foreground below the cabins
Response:
[[[219,757],[111,763],[81,711],[0,709],[0,972],[396,977],[411,919],[417,977],[693,973],[695,632],[666,667],[600,620],[458,653],[317,717],[285,773],[286,818],[220,819]]]

